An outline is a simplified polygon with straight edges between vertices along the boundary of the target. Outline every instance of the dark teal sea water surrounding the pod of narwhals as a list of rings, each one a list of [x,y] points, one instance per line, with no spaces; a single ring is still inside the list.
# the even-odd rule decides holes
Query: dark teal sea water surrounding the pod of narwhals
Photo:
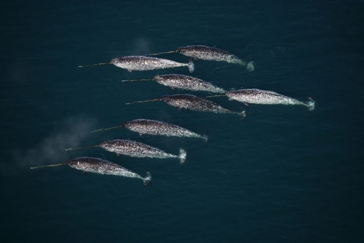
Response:
[[[1,242],[363,242],[363,1],[7,1],[0,9]],[[77,68],[193,44],[256,67],[198,61],[194,76],[225,89],[313,97],[316,109],[249,105],[240,121],[162,102],[125,105],[186,92],[121,80],[187,69]],[[90,133],[136,118],[210,139]],[[185,148],[187,161],[64,151],[119,138]],[[29,169],[77,156],[150,171],[152,184]]]

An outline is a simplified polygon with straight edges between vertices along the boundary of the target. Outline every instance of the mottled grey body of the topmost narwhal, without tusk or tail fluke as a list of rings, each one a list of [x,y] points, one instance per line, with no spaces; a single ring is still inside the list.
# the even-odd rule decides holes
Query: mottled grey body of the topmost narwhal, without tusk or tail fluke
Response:
[[[245,65],[245,62],[239,59],[237,56],[215,47],[202,45],[186,46],[177,48],[177,52],[180,52],[185,56],[190,56],[202,60],[225,61],[229,63],[240,64],[243,66]]]

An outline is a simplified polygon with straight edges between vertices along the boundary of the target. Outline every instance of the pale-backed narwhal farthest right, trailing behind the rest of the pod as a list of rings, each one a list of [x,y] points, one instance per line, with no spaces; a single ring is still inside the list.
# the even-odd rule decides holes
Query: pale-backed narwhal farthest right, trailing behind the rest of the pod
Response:
[[[246,105],[248,104],[301,104],[308,107],[309,111],[314,110],[314,100],[308,98],[308,102],[301,102],[297,99],[281,95],[274,91],[262,90],[257,88],[247,88],[227,91],[225,93],[230,100],[240,101]],[[224,95],[215,95],[224,96]]]

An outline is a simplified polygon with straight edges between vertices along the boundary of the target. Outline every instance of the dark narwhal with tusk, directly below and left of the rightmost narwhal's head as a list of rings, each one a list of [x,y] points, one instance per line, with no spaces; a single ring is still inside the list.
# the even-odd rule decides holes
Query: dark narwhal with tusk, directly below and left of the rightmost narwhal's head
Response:
[[[164,95],[160,99],[136,101],[126,104],[145,103],[149,101],[164,101],[166,104],[177,107],[180,110],[189,109],[195,111],[207,111],[214,113],[231,113],[239,115],[241,119],[244,119],[246,116],[245,111],[242,112],[231,111],[222,107],[219,104],[216,104],[215,102],[191,94]]]

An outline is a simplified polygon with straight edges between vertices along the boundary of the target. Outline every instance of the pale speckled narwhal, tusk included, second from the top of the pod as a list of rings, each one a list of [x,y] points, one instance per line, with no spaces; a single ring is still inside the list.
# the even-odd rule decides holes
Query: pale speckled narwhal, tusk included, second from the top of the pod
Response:
[[[79,68],[113,64],[116,67],[127,69],[128,71],[138,70],[152,70],[152,69],[168,69],[176,67],[188,67],[190,72],[195,70],[193,62],[190,60],[188,63],[175,62],[168,59],[150,57],[150,56],[123,56],[111,59],[110,63],[98,63],[86,66],[78,66]]]

